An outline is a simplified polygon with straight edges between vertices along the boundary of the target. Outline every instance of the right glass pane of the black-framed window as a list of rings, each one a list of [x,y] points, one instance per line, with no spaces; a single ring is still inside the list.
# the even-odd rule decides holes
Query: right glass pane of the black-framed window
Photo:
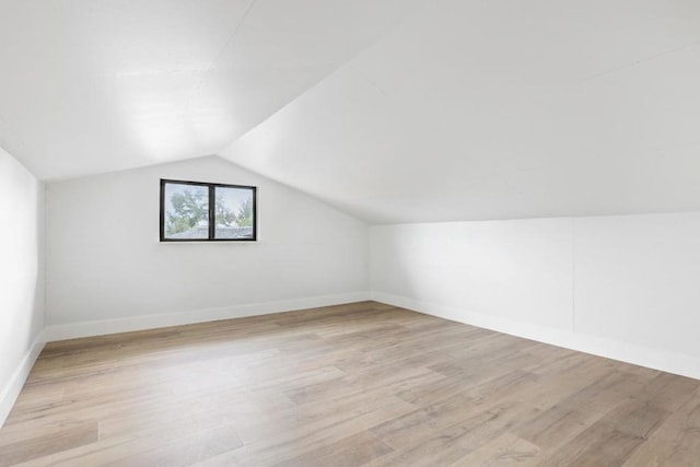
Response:
[[[214,238],[253,238],[255,207],[253,189],[217,187]]]

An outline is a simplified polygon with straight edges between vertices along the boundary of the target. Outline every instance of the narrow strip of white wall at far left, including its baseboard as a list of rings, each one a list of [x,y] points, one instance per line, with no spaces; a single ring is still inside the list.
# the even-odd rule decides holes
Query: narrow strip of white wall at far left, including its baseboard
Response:
[[[42,343],[44,186],[0,149],[0,425]]]

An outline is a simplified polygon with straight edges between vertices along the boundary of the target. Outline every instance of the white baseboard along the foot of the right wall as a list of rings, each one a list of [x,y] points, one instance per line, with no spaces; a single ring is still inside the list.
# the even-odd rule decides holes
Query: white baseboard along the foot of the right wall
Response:
[[[700,359],[684,353],[470,313],[465,310],[382,292],[372,292],[372,300],[565,349],[700,380]]]

